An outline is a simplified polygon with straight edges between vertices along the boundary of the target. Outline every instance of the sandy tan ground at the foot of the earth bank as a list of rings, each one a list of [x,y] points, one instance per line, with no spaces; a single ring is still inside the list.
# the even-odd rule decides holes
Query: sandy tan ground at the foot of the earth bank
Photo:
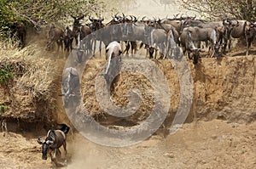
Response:
[[[63,168],[255,168],[256,122],[226,121],[185,124],[167,138],[152,136],[140,144],[111,148],[75,133],[68,135],[68,165]],[[36,138],[0,134],[0,168],[52,168],[41,159]],[[62,150],[62,149],[61,149]]]

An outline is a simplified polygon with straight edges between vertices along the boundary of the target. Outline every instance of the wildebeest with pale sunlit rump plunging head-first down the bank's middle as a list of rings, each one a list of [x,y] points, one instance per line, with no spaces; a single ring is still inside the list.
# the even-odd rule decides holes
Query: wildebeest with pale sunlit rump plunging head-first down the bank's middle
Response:
[[[119,72],[120,54],[122,54],[120,43],[115,41],[110,42],[106,48],[106,59],[108,60],[108,63],[104,74],[108,85],[113,81],[114,76]]]

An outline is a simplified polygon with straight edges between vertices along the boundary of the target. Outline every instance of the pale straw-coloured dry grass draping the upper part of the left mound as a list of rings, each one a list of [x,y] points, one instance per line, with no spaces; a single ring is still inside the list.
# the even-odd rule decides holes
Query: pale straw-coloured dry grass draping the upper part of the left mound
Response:
[[[56,67],[51,59],[44,57],[44,53],[36,44],[20,49],[17,43],[0,42],[0,64],[14,68],[15,77],[20,77],[15,78],[18,86],[30,89],[33,97],[49,99]]]

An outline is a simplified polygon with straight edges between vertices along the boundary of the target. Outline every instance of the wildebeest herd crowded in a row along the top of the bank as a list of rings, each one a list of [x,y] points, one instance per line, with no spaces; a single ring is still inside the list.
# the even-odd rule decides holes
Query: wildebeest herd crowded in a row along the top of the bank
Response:
[[[107,48],[110,42],[120,42],[119,37],[130,37],[131,40],[124,40],[123,54],[129,54],[130,48],[131,54],[135,54],[138,48],[144,46],[147,49],[146,55],[149,54],[150,59],[157,58],[156,51],[160,53],[159,59],[175,58],[177,48],[182,48],[183,54],[187,54],[188,58],[193,59],[193,63],[197,64],[201,52],[206,49],[208,57],[229,54],[234,38],[245,40],[247,55],[255,37],[255,25],[247,20],[207,21],[196,19],[196,16],[183,16],[183,14],[180,17],[176,15],[173,18],[164,19],[148,19],[144,16],[138,20],[133,15],[115,14],[106,24],[103,23],[102,18],[89,17],[90,23],[82,25],[80,20],[84,19],[84,15],[72,17],[73,26],[67,26],[64,30],[54,25],[49,28],[48,48],[56,42],[58,48],[62,48],[64,44],[64,50],[70,51],[73,39],[76,45],[80,46],[80,41],[92,34],[94,38],[82,45],[85,50],[95,54],[96,42],[100,42],[100,48],[102,43]],[[102,29],[108,29],[108,33],[98,32]],[[102,34],[99,35],[99,33]]]

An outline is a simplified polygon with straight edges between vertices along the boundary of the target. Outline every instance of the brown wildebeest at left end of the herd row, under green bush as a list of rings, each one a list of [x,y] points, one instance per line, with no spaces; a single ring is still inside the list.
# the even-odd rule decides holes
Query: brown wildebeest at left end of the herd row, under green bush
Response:
[[[60,47],[61,47],[61,51],[63,50],[63,37],[64,37],[64,31],[59,28],[56,27],[55,25],[51,25],[49,27],[49,31],[48,31],[48,42],[46,45],[46,49],[50,50],[50,48],[52,48],[54,42],[56,42],[57,44],[57,51],[59,52]]]

